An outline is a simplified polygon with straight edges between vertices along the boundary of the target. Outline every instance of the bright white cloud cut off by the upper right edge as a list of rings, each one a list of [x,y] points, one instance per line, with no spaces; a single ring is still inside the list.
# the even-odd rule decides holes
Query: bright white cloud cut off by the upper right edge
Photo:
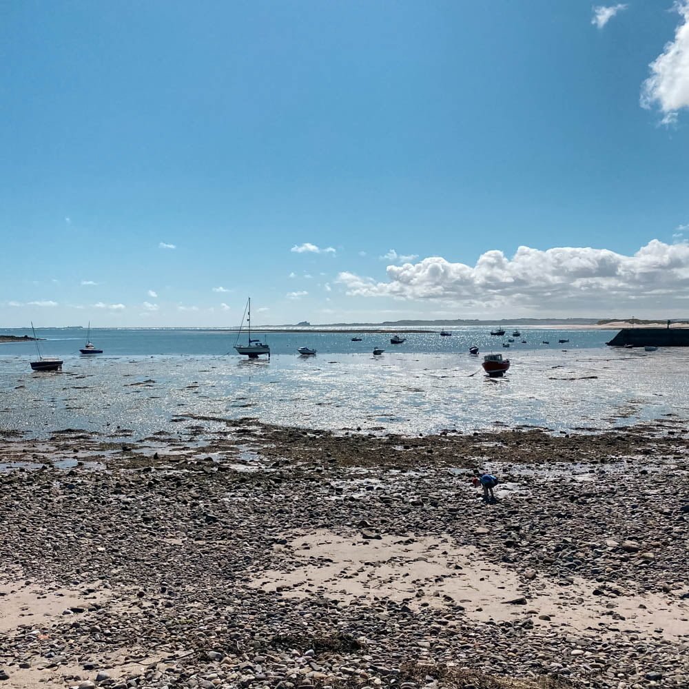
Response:
[[[675,40],[648,65],[651,75],[641,87],[641,106],[657,106],[665,125],[677,122],[677,112],[689,107],[689,0],[676,2],[675,10],[681,17]]]

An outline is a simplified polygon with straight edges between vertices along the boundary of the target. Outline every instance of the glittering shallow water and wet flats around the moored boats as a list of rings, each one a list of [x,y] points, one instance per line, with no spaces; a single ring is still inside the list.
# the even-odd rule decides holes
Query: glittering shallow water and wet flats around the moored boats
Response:
[[[121,426],[147,435],[174,432],[176,415],[187,413],[406,433],[496,424],[593,430],[666,415],[689,418],[689,351],[601,347],[609,332],[528,331],[528,340],[557,342],[569,336],[570,343],[495,348],[512,361],[508,375],[496,380],[484,376],[480,358],[469,356],[462,345],[481,342],[481,333],[474,331],[453,338],[423,333],[413,340],[411,335],[409,344],[384,345],[387,351],[380,357],[371,355],[371,342],[382,345],[389,336],[365,334],[364,342],[351,343],[362,350],[329,352],[321,347],[324,342],[346,350],[350,336],[328,333],[319,342],[315,335],[280,334],[271,336],[278,353],[269,362],[198,351],[117,355],[118,347],[126,347],[125,338],[117,345],[97,335],[92,333],[92,339],[106,354],[95,358],[61,351],[76,348],[75,340],[41,342],[46,356],[63,356],[62,373],[32,373],[32,345],[4,345],[0,429],[44,435],[68,427],[115,432]],[[195,349],[228,339],[227,333],[199,336],[193,331],[181,338],[196,342]],[[274,344],[278,338],[280,347]],[[495,339],[484,336],[489,344]],[[333,345],[338,341],[340,347]],[[317,347],[318,355],[287,353],[302,345]],[[185,342],[166,346],[181,349]],[[564,346],[570,349],[562,351]],[[221,349],[216,346],[216,352]]]

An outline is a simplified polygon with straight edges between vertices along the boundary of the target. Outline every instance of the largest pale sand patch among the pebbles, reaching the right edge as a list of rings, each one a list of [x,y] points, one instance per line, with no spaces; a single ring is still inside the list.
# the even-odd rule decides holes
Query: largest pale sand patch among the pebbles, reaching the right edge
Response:
[[[320,530],[291,537],[290,546],[294,570],[265,571],[254,586],[289,597],[320,595],[345,605],[392,599],[413,610],[447,607],[475,621],[531,617],[537,626],[579,633],[634,631],[689,639],[689,601],[659,594],[600,595],[601,589],[583,579],[574,584],[540,577],[522,581],[512,570],[488,562],[480,548],[455,546],[450,536],[366,541],[360,533],[344,537]],[[509,602],[515,599],[526,602]]]

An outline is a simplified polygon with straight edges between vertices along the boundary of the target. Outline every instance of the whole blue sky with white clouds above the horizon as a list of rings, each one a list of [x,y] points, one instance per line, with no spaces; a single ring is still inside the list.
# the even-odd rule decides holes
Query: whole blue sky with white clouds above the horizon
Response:
[[[689,316],[689,5],[600,7],[3,3],[0,326]]]

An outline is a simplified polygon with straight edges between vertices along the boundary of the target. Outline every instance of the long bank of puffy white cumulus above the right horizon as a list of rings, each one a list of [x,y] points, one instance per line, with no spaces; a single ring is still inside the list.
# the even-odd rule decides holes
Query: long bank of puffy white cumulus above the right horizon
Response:
[[[486,251],[474,266],[431,256],[415,264],[390,265],[387,277],[378,282],[342,272],[338,282],[350,296],[446,300],[463,312],[476,307],[491,313],[546,308],[601,313],[630,301],[665,309],[689,289],[689,243],[654,239],[633,256],[608,249],[519,247],[512,258]]]

